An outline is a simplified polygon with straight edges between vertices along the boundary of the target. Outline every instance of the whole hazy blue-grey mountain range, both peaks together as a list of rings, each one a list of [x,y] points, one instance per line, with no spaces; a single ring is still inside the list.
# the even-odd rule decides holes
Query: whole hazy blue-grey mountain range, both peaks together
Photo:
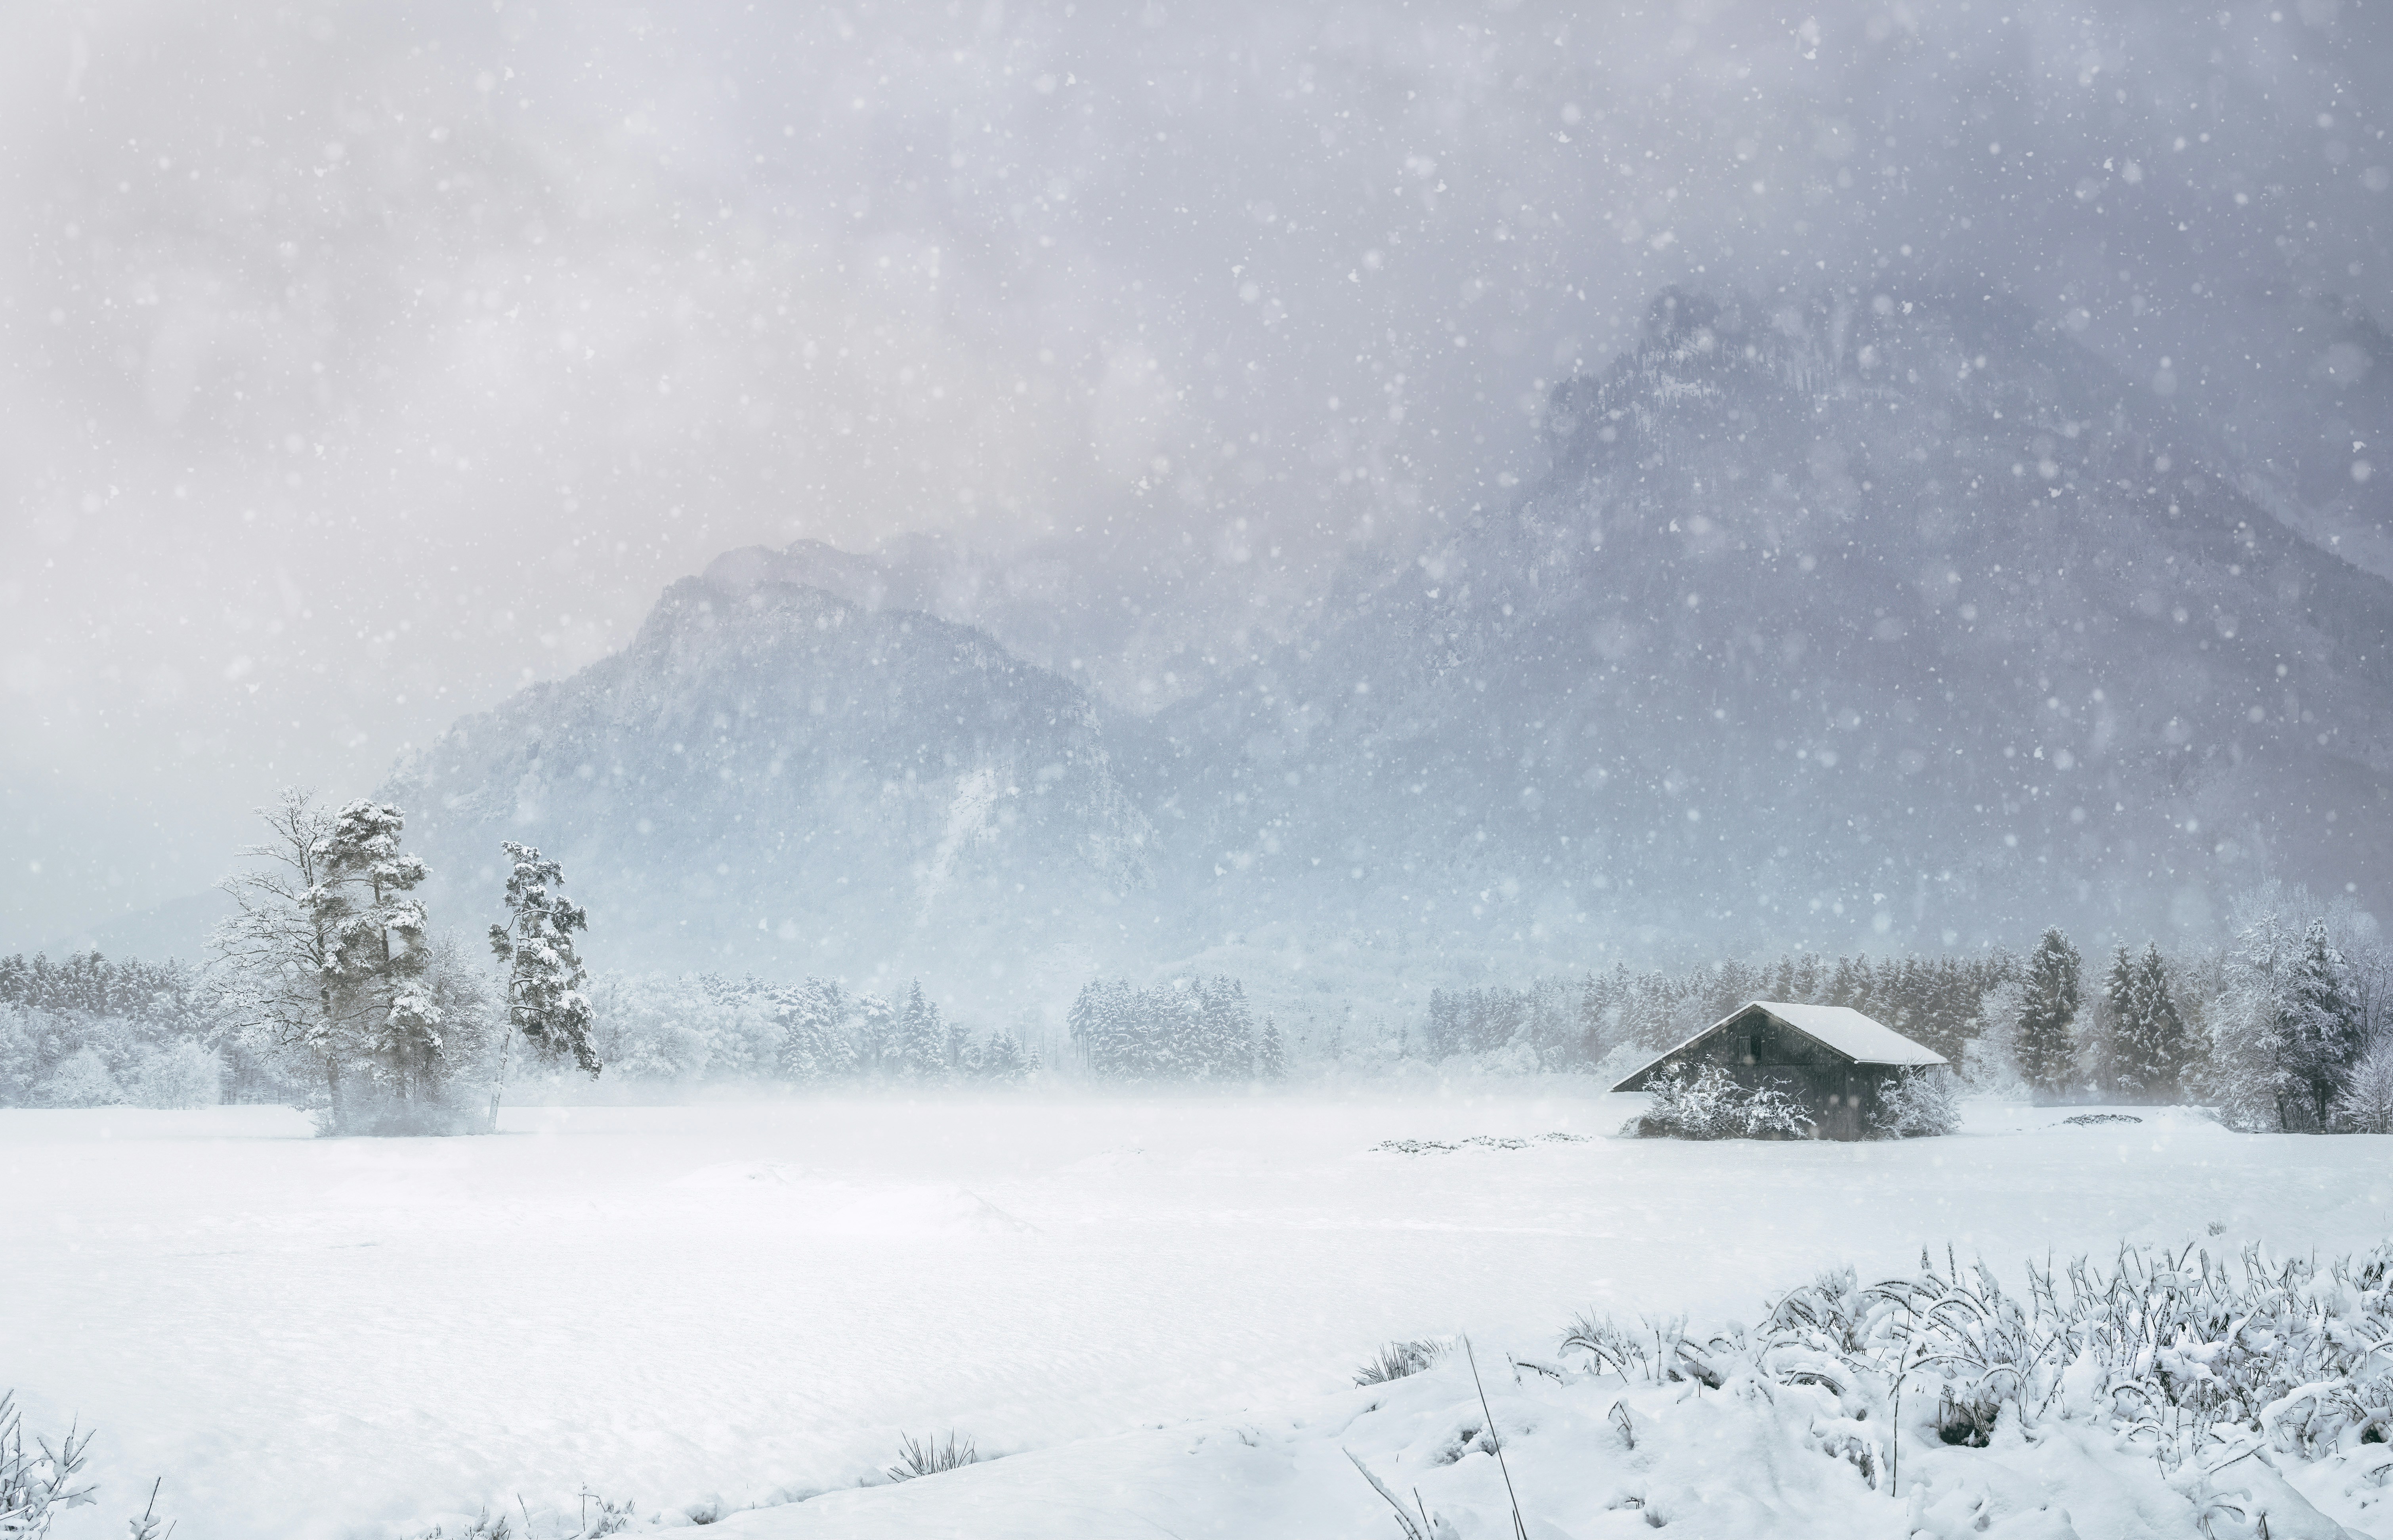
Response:
[[[1668,292],[1546,430],[1512,500],[1278,631],[1204,631],[1168,567],[1118,605],[1067,548],[730,552],[388,794],[440,913],[491,909],[524,839],[593,954],[1024,1002],[1187,964],[1402,990],[2099,947],[2269,878],[2393,897],[2393,583],[2065,330]],[[1201,636],[1151,715],[1106,701],[1141,698],[1098,658],[1125,607]]]

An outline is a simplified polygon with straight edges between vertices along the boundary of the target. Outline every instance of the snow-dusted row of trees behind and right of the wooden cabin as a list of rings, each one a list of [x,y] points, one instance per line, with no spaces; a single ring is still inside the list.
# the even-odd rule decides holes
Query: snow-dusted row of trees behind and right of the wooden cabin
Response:
[[[2115,945],[2101,980],[2060,930],[2024,954],[1780,957],[1433,990],[1429,1059],[1625,1076],[1749,1000],[1845,1004],[1984,1093],[2199,1102],[2254,1131],[2393,1131],[2393,947],[2345,902],[2240,894],[2228,935]]]

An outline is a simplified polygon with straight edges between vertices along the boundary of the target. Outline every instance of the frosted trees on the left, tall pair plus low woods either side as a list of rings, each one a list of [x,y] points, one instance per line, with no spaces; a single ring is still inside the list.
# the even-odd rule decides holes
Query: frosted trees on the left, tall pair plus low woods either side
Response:
[[[538,849],[503,842],[507,921],[486,947],[438,933],[404,813],[287,792],[223,882],[235,916],[203,966],[0,957],[0,1105],[290,1102],[325,1133],[488,1129],[512,1071],[634,1083],[1027,1078],[1012,1031],[806,978],[610,976],[577,952],[586,911]],[[486,952],[486,954],[483,954]]]

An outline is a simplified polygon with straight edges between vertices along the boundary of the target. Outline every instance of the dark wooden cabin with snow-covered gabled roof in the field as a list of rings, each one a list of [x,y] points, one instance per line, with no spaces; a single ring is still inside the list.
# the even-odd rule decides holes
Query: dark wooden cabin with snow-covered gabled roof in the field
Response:
[[[1718,1064],[1740,1086],[1776,1083],[1812,1112],[1814,1138],[1862,1138],[1879,1086],[1905,1069],[1950,1071],[1946,1057],[1843,1004],[1754,1000],[1658,1055],[1613,1090],[1646,1090],[1656,1071]]]

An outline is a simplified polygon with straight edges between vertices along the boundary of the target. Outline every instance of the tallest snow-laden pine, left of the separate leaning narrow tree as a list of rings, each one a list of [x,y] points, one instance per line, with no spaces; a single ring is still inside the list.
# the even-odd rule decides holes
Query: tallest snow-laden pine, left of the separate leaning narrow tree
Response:
[[[440,1007],[426,988],[431,952],[424,904],[409,897],[428,875],[400,849],[407,815],[378,801],[352,801],[333,815],[325,870],[357,897],[340,923],[340,988],[361,997],[359,1026],[383,1107],[376,1126],[445,1126],[447,1064]]]

